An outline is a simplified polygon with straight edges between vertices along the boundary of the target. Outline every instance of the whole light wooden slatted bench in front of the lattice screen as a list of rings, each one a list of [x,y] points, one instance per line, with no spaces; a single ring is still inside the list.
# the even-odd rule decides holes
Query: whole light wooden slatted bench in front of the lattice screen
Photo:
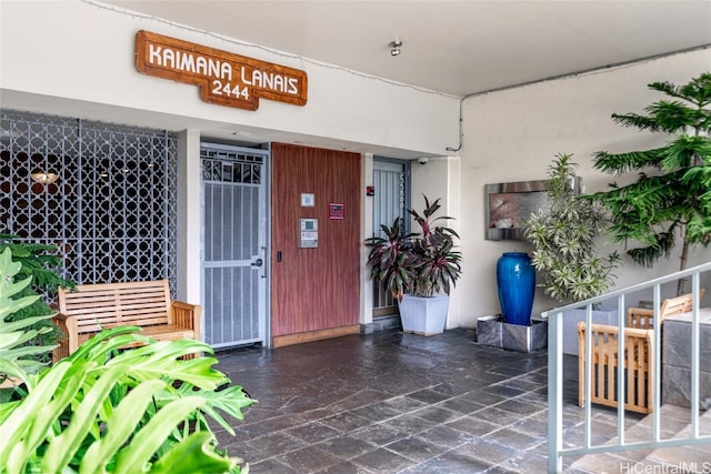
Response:
[[[156,340],[200,340],[202,307],[171,301],[168,280],[77,285],[74,291],[59,289],[58,296],[53,322],[64,337],[54,350],[54,362],[113,326],[141,326],[141,335]]]

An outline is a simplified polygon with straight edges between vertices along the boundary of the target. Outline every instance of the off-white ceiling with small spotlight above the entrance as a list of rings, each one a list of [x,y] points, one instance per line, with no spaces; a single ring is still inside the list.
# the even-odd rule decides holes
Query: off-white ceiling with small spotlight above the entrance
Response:
[[[711,0],[103,3],[457,97],[711,46]]]

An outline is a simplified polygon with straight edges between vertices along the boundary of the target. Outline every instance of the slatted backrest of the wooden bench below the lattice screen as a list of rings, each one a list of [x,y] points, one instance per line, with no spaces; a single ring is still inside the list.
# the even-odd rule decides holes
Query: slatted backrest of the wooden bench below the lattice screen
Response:
[[[168,280],[77,285],[59,290],[59,311],[76,316],[78,332],[117,325],[170,324]]]

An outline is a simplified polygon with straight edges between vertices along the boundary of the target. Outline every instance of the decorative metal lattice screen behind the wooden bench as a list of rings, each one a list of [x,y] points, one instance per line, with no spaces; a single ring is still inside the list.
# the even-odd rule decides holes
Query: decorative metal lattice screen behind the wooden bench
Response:
[[[173,290],[177,170],[174,134],[1,111],[0,232],[59,246],[77,283]]]

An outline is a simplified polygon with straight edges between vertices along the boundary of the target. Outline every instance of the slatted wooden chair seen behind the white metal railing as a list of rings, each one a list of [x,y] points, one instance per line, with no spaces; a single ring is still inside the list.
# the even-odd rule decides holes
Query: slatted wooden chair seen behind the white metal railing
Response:
[[[703,297],[703,290],[699,299]],[[671,297],[662,302],[659,311],[661,327],[664,317],[691,311],[691,293]],[[654,331],[653,310],[630,307],[624,329],[624,354],[622,356],[625,374],[624,409],[639,413],[651,413],[653,404],[654,371]],[[578,323],[578,396],[580,406],[585,403],[585,323]],[[590,330],[591,363],[590,399],[592,403],[618,406],[617,367],[619,361],[619,327],[607,324],[592,324]]]

